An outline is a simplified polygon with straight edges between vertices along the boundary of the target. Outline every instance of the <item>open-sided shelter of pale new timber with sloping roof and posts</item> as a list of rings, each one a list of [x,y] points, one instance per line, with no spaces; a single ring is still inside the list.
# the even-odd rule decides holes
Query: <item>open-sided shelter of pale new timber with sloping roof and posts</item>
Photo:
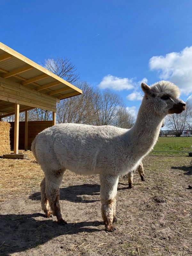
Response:
[[[14,154],[18,154],[19,113],[25,111],[25,145],[28,144],[28,110],[52,111],[56,103],[82,94],[76,86],[0,43],[0,121],[15,115]]]

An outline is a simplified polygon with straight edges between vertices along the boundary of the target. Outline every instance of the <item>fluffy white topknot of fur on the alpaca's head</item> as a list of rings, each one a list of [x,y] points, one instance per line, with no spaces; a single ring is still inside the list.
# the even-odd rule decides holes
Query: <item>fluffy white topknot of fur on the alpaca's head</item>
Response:
[[[169,81],[159,81],[151,85],[151,90],[160,95],[168,94],[172,97],[178,98],[180,96],[179,87]]]

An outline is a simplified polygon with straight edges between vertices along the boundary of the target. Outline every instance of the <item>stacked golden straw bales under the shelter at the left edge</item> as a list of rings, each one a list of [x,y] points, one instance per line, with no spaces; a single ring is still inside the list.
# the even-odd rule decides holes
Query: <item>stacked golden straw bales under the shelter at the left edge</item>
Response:
[[[10,149],[10,124],[7,122],[0,122],[0,156],[9,154]]]

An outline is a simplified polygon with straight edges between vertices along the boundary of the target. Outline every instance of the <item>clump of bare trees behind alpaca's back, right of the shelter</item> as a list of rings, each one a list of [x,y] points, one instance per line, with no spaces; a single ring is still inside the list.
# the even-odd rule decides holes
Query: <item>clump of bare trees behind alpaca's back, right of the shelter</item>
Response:
[[[124,107],[116,93],[93,88],[86,81],[76,84],[82,95],[61,100],[57,104],[57,123],[81,123],[92,125],[115,125],[130,128],[134,117]]]

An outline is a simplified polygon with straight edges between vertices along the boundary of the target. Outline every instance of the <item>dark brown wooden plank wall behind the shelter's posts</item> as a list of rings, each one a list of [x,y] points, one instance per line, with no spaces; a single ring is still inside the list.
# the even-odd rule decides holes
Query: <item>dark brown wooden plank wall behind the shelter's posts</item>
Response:
[[[14,122],[10,122],[10,144],[11,150],[14,146]],[[28,150],[31,149],[31,143],[35,136],[44,129],[51,127],[52,121],[29,121],[28,122]],[[25,122],[19,122],[19,150],[25,149]]]

